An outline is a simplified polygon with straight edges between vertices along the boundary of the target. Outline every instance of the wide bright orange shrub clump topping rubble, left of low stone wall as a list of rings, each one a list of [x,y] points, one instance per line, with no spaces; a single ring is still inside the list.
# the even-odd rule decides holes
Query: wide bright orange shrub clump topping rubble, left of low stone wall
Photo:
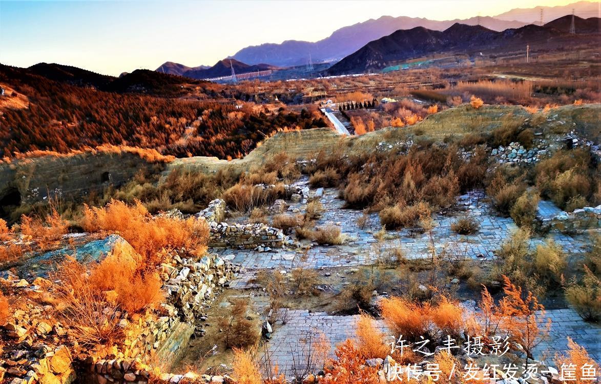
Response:
[[[117,200],[111,200],[103,208],[85,206],[81,225],[90,232],[118,233],[141,255],[141,260],[136,261],[138,268],[144,270],[154,270],[165,251],[174,248],[185,247],[194,255],[203,255],[209,237],[204,221],[153,218],[137,200],[132,206]]]

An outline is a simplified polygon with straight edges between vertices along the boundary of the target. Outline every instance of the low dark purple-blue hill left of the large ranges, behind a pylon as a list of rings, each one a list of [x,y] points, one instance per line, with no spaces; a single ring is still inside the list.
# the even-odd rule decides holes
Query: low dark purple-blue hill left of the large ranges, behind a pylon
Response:
[[[162,64],[162,66],[160,66],[159,68],[157,68],[156,72],[164,72],[172,75],[186,76],[192,79],[212,79],[221,78],[221,76],[230,76],[231,67],[234,67],[234,72],[236,72],[238,75],[242,73],[257,72],[277,68],[269,64],[256,64],[251,66],[236,59],[228,58],[219,60],[212,67],[200,66],[194,68],[186,67],[182,64],[177,64],[177,62],[168,61],[165,62],[165,64]]]

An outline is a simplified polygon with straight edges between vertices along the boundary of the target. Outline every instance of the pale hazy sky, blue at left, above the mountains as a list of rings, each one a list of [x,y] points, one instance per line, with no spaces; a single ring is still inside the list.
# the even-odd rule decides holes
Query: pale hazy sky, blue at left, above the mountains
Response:
[[[569,0],[0,0],[0,62],[58,62],[107,75],[165,61],[213,65],[249,45],[317,41],[383,15],[433,20],[494,16]]]

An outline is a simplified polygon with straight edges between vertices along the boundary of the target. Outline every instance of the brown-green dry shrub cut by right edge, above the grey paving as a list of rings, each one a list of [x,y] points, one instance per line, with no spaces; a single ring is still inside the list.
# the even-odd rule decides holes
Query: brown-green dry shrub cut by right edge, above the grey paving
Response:
[[[566,299],[584,320],[597,322],[601,319],[601,281],[587,266],[584,266],[581,284],[573,279],[567,286]]]

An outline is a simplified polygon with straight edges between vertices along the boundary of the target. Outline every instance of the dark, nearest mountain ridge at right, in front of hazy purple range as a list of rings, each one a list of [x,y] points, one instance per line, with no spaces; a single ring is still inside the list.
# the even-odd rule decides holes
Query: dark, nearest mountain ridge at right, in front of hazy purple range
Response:
[[[599,18],[575,18],[578,33],[597,32]],[[326,70],[327,75],[346,75],[381,70],[399,62],[432,53],[502,53],[523,49],[529,44],[534,52],[538,47],[551,49],[574,43],[581,35],[569,35],[572,16],[564,16],[545,26],[526,25],[496,32],[483,26],[455,23],[444,31],[424,27],[401,29],[388,36],[365,44]],[[543,46],[544,44],[544,46]]]

